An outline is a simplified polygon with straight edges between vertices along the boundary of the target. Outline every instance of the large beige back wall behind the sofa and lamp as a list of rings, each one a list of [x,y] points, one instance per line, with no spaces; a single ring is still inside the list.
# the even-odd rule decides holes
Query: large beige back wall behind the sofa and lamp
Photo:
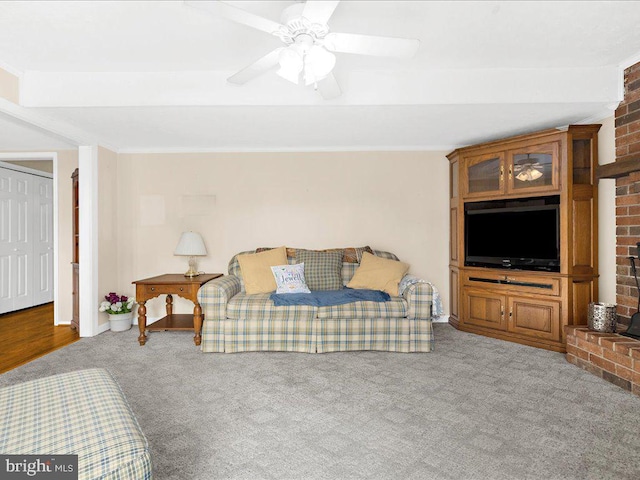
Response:
[[[207,272],[227,273],[235,253],[260,246],[389,250],[439,288],[448,311],[445,153],[120,154],[119,290],[184,272],[173,250],[194,230],[209,252],[199,263]],[[193,308],[175,305],[176,313]],[[150,318],[164,315],[160,300],[147,308]]]

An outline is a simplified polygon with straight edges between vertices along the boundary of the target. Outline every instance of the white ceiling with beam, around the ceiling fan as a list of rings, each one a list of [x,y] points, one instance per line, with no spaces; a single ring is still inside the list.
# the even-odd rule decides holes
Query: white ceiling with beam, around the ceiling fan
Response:
[[[227,3],[279,21],[294,2]],[[639,21],[637,1],[344,0],[332,31],[420,49],[338,54],[343,95],[327,101],[275,72],[228,84],[280,41],[182,1],[0,2],[0,67],[21,79],[0,150],[440,150],[594,121],[640,61]]]

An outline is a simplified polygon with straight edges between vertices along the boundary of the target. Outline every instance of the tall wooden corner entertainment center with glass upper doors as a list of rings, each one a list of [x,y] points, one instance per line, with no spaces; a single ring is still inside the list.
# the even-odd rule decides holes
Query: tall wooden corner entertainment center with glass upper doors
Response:
[[[449,323],[558,352],[565,325],[587,323],[598,299],[598,130],[571,125],[451,152]],[[549,267],[468,261],[465,211],[477,205],[550,201],[559,213],[559,262]],[[495,202],[499,200],[501,202]],[[505,225],[505,229],[517,225]],[[500,235],[487,231],[487,238]],[[488,240],[490,241],[490,240]]]

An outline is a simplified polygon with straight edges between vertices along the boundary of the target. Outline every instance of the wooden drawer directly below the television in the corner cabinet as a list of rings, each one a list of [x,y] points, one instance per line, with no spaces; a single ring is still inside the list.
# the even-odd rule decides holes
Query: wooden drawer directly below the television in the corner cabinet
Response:
[[[466,272],[464,284],[496,291],[560,295],[560,278],[527,275],[513,272]]]

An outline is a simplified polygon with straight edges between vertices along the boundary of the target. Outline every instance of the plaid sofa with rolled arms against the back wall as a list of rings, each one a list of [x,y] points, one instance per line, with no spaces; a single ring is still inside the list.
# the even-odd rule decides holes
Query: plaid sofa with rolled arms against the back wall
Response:
[[[295,263],[290,253],[295,249],[287,251],[289,263]],[[235,255],[229,262],[228,276],[207,282],[198,291],[204,315],[203,352],[432,350],[434,290],[429,283],[409,285],[401,297],[391,297],[387,302],[276,307],[268,293],[245,293],[238,263],[238,255],[244,253],[255,253],[255,250]],[[398,260],[390,252],[373,253]],[[347,258],[346,254],[345,260],[348,261],[342,263],[344,285],[359,266],[356,259]]]

